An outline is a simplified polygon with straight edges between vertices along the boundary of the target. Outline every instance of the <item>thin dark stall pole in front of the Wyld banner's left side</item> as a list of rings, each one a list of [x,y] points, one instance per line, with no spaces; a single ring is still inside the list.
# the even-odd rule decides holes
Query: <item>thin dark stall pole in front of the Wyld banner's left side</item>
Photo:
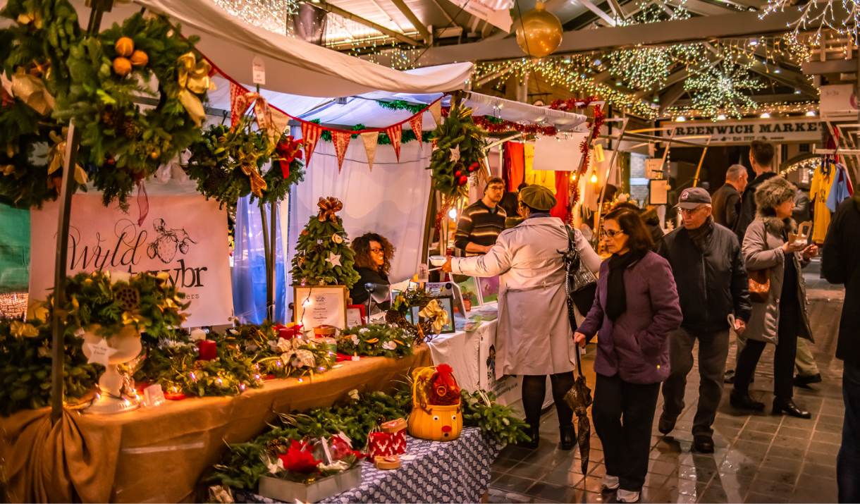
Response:
[[[89,34],[98,32],[101,26],[101,14],[110,12],[114,0],[87,0],[89,11]],[[75,118],[69,121],[69,133],[66,138],[63,159],[63,185],[59,190],[59,212],[57,218],[57,260],[54,262],[54,293],[52,310],[52,347],[51,347],[51,422],[63,416],[63,371],[65,366],[65,321],[60,310],[65,306],[65,274],[66,260],[69,252],[69,218],[71,214],[71,195],[77,188],[74,171],[77,165],[77,146],[81,143],[81,132],[77,128]]]

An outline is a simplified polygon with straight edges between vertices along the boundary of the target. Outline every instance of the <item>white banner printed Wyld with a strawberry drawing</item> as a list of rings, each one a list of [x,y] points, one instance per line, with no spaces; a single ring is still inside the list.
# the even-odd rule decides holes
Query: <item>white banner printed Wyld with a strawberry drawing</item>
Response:
[[[56,202],[30,211],[30,297],[46,299],[53,287],[57,251]],[[78,272],[166,272],[191,306],[185,327],[231,323],[233,291],[227,248],[227,218],[215,200],[203,196],[150,196],[149,213],[138,227],[138,206],[130,213],[105,208],[101,194],[71,200],[68,274]]]

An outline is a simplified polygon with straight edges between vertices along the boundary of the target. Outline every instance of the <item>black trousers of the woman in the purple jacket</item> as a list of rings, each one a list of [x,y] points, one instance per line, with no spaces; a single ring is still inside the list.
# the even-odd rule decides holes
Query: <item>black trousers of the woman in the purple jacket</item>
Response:
[[[597,375],[592,417],[603,444],[606,474],[617,476],[620,488],[642,491],[648,476],[651,427],[660,384],[631,384],[618,375]]]

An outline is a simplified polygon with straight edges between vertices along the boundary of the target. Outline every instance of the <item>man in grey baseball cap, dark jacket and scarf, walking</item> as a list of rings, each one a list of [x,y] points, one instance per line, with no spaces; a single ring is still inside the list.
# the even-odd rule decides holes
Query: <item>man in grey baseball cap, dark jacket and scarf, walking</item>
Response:
[[[698,340],[699,399],[693,419],[697,452],[714,452],[711,425],[722,398],[722,377],[728,359],[728,316],[734,329],[746,328],[750,312],[748,280],[737,237],[714,223],[708,191],[691,187],[679,200],[684,226],[663,238],[659,254],[669,261],[684,322],[669,335],[669,378],[663,382],[663,415],[658,428],[670,433],[684,410],[687,374]]]

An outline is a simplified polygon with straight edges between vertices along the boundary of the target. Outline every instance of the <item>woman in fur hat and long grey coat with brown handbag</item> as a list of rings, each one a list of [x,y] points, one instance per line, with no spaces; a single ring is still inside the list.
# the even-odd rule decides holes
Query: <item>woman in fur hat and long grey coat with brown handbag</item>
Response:
[[[805,242],[789,243],[789,233],[797,227],[791,219],[795,193],[796,187],[781,176],[771,177],[755,193],[758,213],[746,229],[741,255],[753,280],[762,280],[760,272],[765,272],[770,291],[759,302],[753,299],[753,314],[746,323],[746,347],[738,356],[730,399],[736,408],[765,408],[764,403],[749,396],[749,382],[765,344],[773,343],[777,346],[773,413],[809,418],[809,412],[798,408],[791,397],[797,337],[812,341],[801,269],[818,254],[818,248]]]

